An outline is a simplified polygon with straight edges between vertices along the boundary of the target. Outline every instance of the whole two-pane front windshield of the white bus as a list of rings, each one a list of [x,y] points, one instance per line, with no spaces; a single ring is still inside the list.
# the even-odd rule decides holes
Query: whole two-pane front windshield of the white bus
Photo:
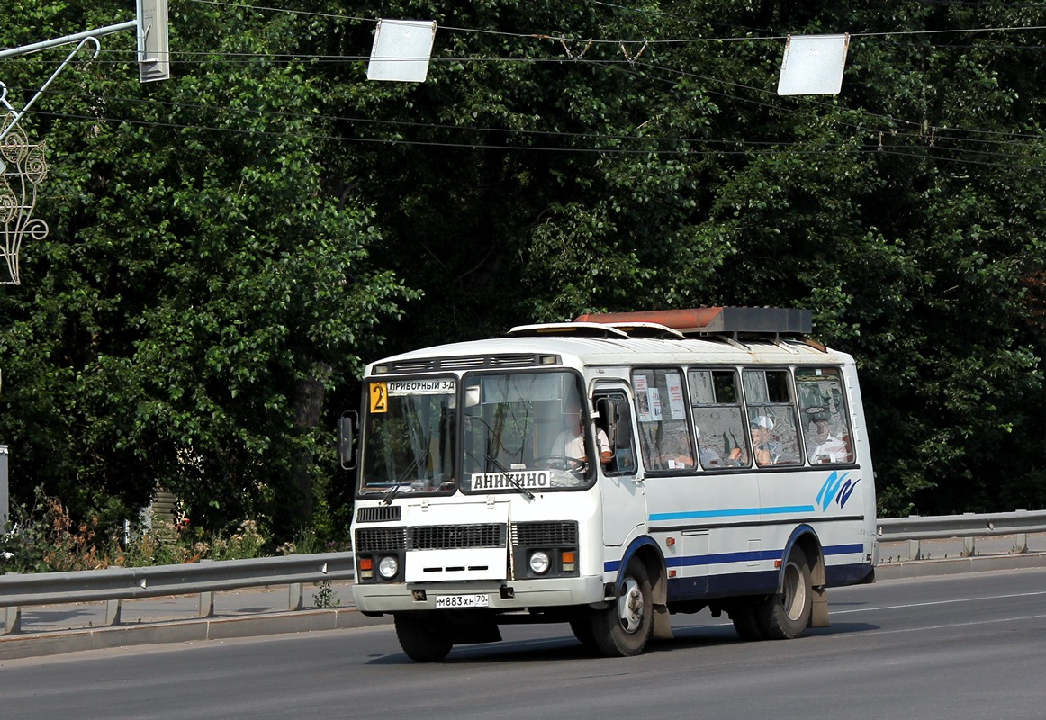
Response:
[[[571,373],[374,380],[367,392],[361,494],[385,493],[389,501],[458,487],[530,494],[595,479],[591,433]]]

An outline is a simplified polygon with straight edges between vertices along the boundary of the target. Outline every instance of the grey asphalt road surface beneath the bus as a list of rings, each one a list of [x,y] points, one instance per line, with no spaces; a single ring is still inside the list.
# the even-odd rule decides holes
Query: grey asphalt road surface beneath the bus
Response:
[[[743,643],[723,618],[586,655],[566,626],[417,665],[387,626],[0,662],[4,718],[1042,720],[1046,569],[829,592],[831,628]]]

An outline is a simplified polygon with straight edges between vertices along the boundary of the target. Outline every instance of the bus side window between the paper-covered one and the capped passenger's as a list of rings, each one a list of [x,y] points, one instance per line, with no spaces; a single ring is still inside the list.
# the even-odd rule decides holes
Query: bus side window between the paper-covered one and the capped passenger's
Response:
[[[748,467],[751,453],[737,374],[729,369],[691,369],[688,378],[701,467]]]

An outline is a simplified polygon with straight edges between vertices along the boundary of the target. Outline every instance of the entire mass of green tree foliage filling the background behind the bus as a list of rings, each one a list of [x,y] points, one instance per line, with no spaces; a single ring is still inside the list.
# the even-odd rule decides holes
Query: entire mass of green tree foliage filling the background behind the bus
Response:
[[[51,233],[0,300],[16,492],[161,482],[281,538],[344,507],[329,427],[365,359],[726,303],[811,308],[858,357],[884,512],[1046,503],[1041,30],[972,29],[1041,9],[288,9],[179,4],[170,81],[114,37],[25,120]],[[6,15],[4,46],[122,16]],[[426,83],[367,82],[377,17],[438,21]],[[781,38],[841,31],[842,92],[778,96]],[[9,96],[58,57],[0,61]]]

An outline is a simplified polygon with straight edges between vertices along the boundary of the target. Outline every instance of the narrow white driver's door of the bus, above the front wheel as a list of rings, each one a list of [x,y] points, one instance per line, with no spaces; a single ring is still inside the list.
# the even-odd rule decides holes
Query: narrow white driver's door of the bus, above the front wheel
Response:
[[[636,452],[632,405],[623,386],[596,387],[592,396],[596,428],[607,433],[613,456],[601,467],[602,542],[624,544],[646,523],[646,494]]]

